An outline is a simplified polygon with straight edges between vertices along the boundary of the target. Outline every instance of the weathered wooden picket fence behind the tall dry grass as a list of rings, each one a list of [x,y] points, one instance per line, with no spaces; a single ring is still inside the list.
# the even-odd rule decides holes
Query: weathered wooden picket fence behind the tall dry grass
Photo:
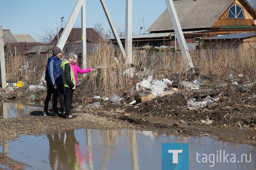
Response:
[[[189,51],[192,62],[195,68],[200,67],[200,63],[202,62],[202,57],[204,58],[204,62],[208,62],[207,59],[214,60],[223,55],[231,55],[234,58],[239,58],[238,56],[245,55],[250,52],[248,49],[237,50],[237,49],[200,49],[200,50],[192,50]],[[252,55],[252,54],[250,54]],[[82,66],[81,53],[78,56],[78,66]],[[90,55],[88,55],[90,57]],[[47,59],[49,56],[46,54],[40,55],[25,55],[25,56],[6,56],[6,72],[13,71],[19,69],[21,72],[35,72],[44,70]],[[91,56],[92,57],[92,56]],[[205,60],[206,59],[206,60]],[[87,58],[88,60],[88,58]],[[160,68],[179,67],[184,60],[181,57],[181,52],[150,52],[150,53],[141,53],[139,51],[133,52],[133,62],[134,64],[140,64],[142,67],[152,68],[158,70]],[[19,63],[17,65],[17,63]],[[97,67],[97,66],[93,66]]]

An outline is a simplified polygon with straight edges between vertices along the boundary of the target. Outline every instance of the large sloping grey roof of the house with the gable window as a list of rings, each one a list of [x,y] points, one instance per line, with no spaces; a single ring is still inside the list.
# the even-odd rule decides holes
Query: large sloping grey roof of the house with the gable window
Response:
[[[182,29],[211,28],[234,0],[173,1]],[[147,31],[174,30],[168,9]]]

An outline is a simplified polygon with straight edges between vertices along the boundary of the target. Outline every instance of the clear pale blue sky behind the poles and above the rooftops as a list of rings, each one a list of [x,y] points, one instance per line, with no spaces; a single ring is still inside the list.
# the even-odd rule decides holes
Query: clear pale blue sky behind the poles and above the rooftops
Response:
[[[30,34],[37,42],[41,42],[47,31],[56,31],[57,34],[57,27],[59,30],[61,25],[64,28],[76,2],[77,0],[0,0],[0,26],[3,30],[10,30],[12,34]],[[105,3],[116,30],[124,32],[126,0],[105,0]],[[165,0],[132,1],[133,35],[148,33],[147,29],[166,8]],[[85,0],[85,9],[87,28],[93,28],[99,23],[105,32],[110,30],[100,0]],[[62,23],[61,17],[64,17]],[[81,28],[81,11],[74,27]],[[143,29],[140,30],[140,27]]]

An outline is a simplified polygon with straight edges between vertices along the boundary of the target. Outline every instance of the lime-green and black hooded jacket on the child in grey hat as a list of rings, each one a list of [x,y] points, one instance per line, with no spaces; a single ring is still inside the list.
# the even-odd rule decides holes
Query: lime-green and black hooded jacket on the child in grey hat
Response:
[[[67,60],[64,60],[61,63],[60,67],[62,68],[62,77],[63,77],[64,86],[70,87],[70,88],[75,87],[75,76],[71,68],[70,62]]]

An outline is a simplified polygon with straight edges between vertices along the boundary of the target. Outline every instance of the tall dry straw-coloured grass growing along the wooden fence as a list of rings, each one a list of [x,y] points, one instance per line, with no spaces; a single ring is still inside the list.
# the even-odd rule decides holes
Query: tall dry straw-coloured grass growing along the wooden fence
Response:
[[[195,68],[200,69],[201,75],[211,75],[213,82],[227,81],[229,75],[246,75],[240,79],[249,78],[255,81],[256,59],[255,49],[202,49],[191,52],[191,58]],[[6,63],[6,79],[8,82],[23,81],[27,84],[36,84],[47,63],[35,63],[23,55],[14,57],[11,62]],[[34,64],[33,64],[34,63]],[[147,72],[155,70],[158,79],[173,78],[173,73],[179,73],[179,79],[187,79],[186,71],[188,65],[182,59],[180,53],[163,51],[151,53],[147,50],[133,50],[133,64],[136,64],[136,72],[144,67]],[[134,75],[123,75],[123,72],[131,66],[124,64],[120,51],[109,43],[100,43],[95,52],[87,54],[87,67],[95,68],[87,73],[86,77],[78,74],[78,80],[83,84],[86,93],[93,93],[100,96],[109,96],[115,92],[124,96],[129,94],[130,89],[137,83],[147,78]],[[185,73],[185,74],[184,74]],[[238,77],[237,77],[238,78]]]

